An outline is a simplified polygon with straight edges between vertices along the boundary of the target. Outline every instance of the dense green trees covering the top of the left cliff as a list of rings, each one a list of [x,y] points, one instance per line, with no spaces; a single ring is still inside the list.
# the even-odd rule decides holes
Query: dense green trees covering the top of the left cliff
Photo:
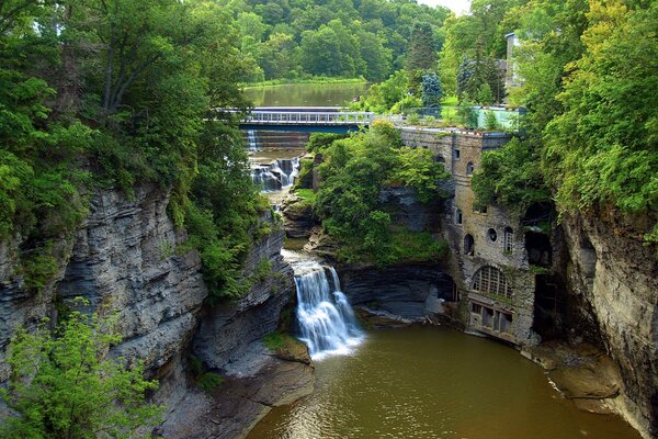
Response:
[[[213,291],[234,294],[228,277],[239,277],[263,209],[231,124],[240,114],[209,111],[247,106],[237,83],[252,65],[224,10],[24,0],[0,3],[0,239],[30,249],[26,285],[55,272],[48,246],[84,216],[83,194],[133,196],[151,183],[171,190],[169,211],[191,226]],[[204,122],[215,119],[226,123]]]

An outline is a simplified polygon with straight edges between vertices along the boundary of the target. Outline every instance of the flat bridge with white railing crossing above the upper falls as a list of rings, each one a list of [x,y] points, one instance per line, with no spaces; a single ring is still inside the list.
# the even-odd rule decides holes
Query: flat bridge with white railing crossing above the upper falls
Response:
[[[348,133],[368,126],[375,113],[338,106],[259,106],[240,122],[241,130]]]

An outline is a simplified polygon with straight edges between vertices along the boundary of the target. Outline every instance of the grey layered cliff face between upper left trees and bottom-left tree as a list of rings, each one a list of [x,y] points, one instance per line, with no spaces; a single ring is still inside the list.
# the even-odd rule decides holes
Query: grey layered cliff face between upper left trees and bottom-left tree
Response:
[[[80,296],[89,302],[90,312],[107,306],[120,314],[124,341],[113,353],[145,361],[149,373],[161,381],[156,399],[169,405],[181,397],[182,352],[207,291],[196,251],[175,254],[184,237],[177,236],[167,216],[168,202],[166,192],[149,185],[138,188],[133,200],[116,191],[94,194],[75,237],[57,244],[59,271],[38,294],[26,293],[21,277],[12,279],[13,271],[4,269],[0,315],[11,318],[2,319],[2,347],[19,326],[31,327],[45,316],[56,318],[56,303],[67,306]],[[11,247],[4,249],[4,264],[16,263]],[[3,381],[7,365],[0,362]]]

